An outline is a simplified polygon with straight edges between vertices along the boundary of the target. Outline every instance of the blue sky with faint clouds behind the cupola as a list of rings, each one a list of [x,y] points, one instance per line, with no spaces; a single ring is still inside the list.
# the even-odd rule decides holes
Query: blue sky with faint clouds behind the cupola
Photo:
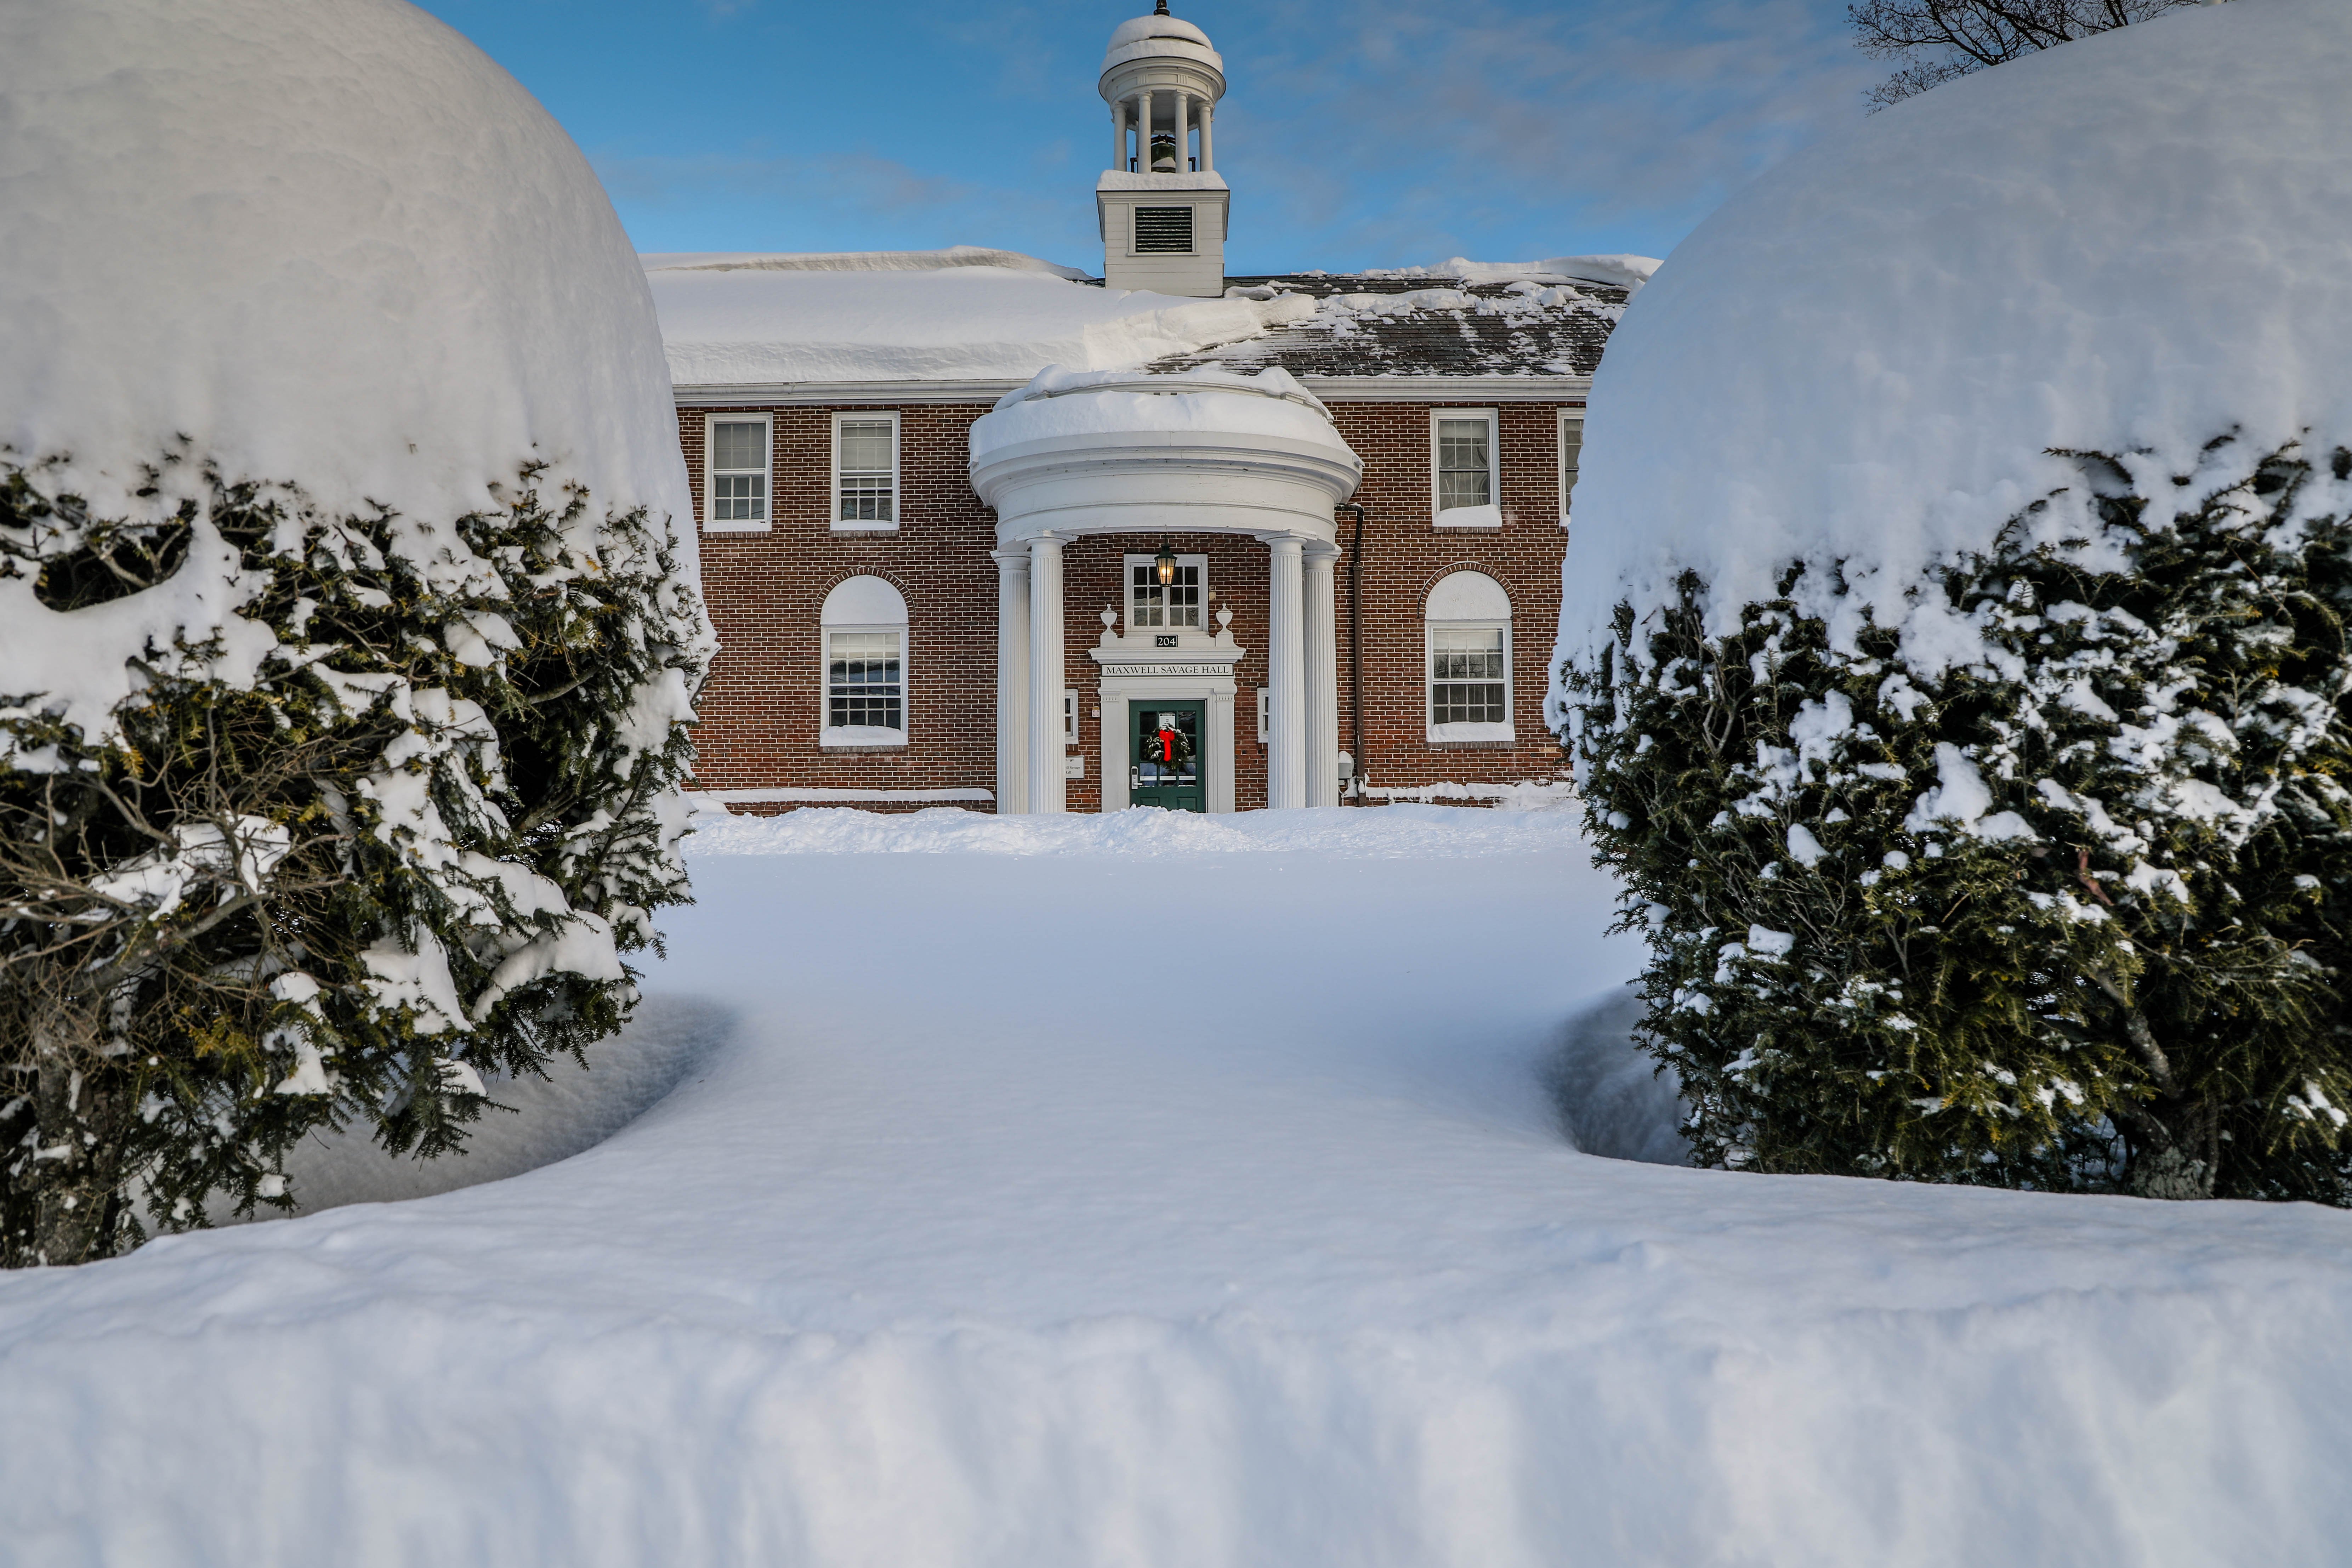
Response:
[[[1098,268],[1103,40],[1148,0],[423,0],[640,249],[1000,244]],[[1174,0],[1225,56],[1230,273],[1663,256],[1882,75],[1842,0]]]

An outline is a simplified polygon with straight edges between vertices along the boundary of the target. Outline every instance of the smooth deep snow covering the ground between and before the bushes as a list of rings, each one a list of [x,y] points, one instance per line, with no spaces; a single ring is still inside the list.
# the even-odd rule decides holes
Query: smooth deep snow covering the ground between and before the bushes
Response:
[[[609,1140],[0,1276],[0,1561],[2345,1561],[2352,1215],[1578,1152],[1571,813],[696,849]]]

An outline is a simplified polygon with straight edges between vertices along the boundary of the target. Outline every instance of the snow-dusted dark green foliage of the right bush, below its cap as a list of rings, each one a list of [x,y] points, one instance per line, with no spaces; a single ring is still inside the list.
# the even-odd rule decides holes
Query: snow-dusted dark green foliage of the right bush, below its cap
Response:
[[[2345,1204],[2352,454],[2065,456],[1957,661],[1790,569],[1564,665],[1642,1041],[1700,1164]]]

